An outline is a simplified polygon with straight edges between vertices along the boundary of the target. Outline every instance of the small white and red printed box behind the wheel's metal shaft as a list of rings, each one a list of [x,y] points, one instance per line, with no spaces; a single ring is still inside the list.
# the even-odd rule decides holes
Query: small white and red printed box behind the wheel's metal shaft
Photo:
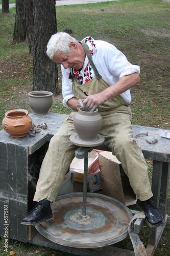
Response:
[[[84,176],[84,159],[74,158],[72,163],[70,164],[71,172],[75,174],[75,181],[83,183],[83,176]],[[99,156],[98,152],[92,150],[88,153],[88,173],[87,178],[89,175],[94,174],[95,172],[99,172]]]

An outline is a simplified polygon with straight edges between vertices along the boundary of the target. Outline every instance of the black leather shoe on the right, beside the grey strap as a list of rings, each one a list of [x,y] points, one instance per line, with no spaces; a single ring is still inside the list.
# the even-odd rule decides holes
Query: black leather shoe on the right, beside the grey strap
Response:
[[[136,204],[144,211],[144,215],[146,217],[145,220],[150,227],[158,227],[163,224],[163,217],[158,208],[156,208],[153,202],[153,197],[146,201],[140,201],[137,199]]]

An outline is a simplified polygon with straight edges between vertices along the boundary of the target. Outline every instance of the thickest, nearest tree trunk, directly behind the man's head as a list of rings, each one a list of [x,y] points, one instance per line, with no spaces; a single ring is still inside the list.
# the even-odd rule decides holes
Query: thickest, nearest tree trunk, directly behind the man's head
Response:
[[[57,64],[46,55],[46,46],[51,36],[57,33],[55,0],[34,0],[34,58],[33,90],[58,90]]]

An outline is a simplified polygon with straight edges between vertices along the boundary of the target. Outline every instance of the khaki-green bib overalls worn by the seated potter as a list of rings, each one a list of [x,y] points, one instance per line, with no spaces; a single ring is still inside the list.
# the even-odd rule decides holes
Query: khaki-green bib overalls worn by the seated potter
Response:
[[[94,70],[95,77],[82,85],[74,78],[72,91],[77,99],[100,93],[110,86],[96,70],[88,46],[85,42],[81,44]],[[148,200],[153,196],[148,178],[148,166],[140,146],[132,137],[131,109],[123,97],[118,95],[99,105],[98,110],[103,118],[100,134],[105,137],[105,145],[121,162],[137,198],[141,201]],[[69,140],[70,135],[76,133],[73,124],[76,113],[77,111],[71,112],[50,141],[41,165],[34,201],[44,198],[55,201],[67,169],[78,149],[78,146]]]

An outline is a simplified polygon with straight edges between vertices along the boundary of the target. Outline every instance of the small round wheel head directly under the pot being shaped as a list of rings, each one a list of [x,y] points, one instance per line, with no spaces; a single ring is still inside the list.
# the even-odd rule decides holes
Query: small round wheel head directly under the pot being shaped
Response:
[[[73,144],[75,144],[77,146],[87,146],[87,147],[89,147],[89,146],[99,146],[105,140],[105,138],[100,134],[97,134],[93,140],[81,140],[77,133],[72,134],[69,137],[69,139]]]

